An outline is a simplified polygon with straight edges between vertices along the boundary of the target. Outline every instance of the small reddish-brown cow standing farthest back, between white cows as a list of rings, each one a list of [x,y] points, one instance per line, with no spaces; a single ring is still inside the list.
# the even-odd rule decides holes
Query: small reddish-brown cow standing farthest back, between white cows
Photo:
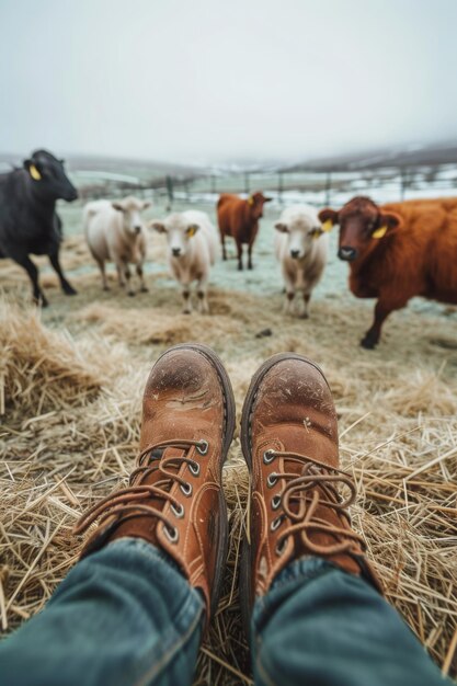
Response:
[[[237,243],[238,268],[242,270],[243,243],[248,244],[248,268],[252,270],[252,245],[259,231],[259,219],[263,216],[263,205],[272,197],[263,193],[253,193],[245,201],[238,195],[222,193],[217,203],[222,259],[227,260],[226,236],[231,236]]]

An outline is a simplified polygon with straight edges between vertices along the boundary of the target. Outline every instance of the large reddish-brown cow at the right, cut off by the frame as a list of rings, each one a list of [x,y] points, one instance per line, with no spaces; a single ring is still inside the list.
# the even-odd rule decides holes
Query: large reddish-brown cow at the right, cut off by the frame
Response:
[[[354,197],[319,219],[324,229],[340,225],[338,255],[350,262],[352,293],[378,299],[363,347],[375,347],[386,318],[413,296],[457,302],[457,198],[378,206]]]

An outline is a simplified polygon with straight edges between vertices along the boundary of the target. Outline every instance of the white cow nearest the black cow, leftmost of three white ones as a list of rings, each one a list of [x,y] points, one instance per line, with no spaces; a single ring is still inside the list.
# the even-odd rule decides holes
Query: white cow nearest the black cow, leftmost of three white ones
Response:
[[[121,286],[124,287],[127,279],[129,296],[135,295],[130,283],[129,264],[136,266],[140,290],[148,290],[142,276],[146,232],[140,213],[149,205],[150,203],[132,196],[123,201],[94,201],[85,205],[83,210],[85,240],[100,267],[103,290],[108,290],[106,261],[115,263]]]

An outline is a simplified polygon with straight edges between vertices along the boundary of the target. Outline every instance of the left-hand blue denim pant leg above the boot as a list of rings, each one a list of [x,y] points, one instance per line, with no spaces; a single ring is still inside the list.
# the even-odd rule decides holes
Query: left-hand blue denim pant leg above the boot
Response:
[[[0,642],[0,686],[192,684],[204,604],[163,552],[118,539]]]

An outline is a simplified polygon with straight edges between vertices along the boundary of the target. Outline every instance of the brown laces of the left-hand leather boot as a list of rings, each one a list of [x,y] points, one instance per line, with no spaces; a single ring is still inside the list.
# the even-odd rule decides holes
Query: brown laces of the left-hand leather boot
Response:
[[[183,441],[162,441],[146,448],[138,458],[138,466],[132,472],[128,487],[121,489],[111,495],[101,500],[96,505],[85,512],[77,526],[75,534],[83,534],[91,524],[99,519],[99,526],[103,526],[111,517],[116,516],[118,523],[138,516],[153,516],[160,519],[164,525],[164,531],[168,538],[175,542],[178,540],[178,529],[173,526],[168,517],[163,514],[163,505],[159,510],[149,502],[151,499],[170,502],[171,508],[178,517],[184,516],[184,505],[170,493],[173,483],[179,483],[181,491],[185,496],[192,495],[192,483],[179,476],[179,471],[183,464],[194,476],[199,475],[199,464],[186,455],[179,457],[164,457],[162,451],[165,448],[176,448],[187,450],[195,446],[199,455],[206,455],[208,451],[208,443],[206,441],[192,441],[185,438]],[[153,483],[145,483],[146,479],[156,473]]]

